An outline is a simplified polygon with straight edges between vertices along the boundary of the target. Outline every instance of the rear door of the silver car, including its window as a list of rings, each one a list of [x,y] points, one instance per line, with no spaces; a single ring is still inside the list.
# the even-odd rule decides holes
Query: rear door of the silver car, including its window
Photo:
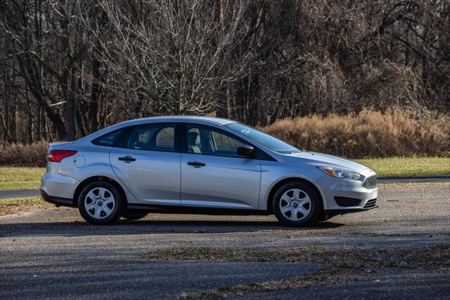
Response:
[[[110,152],[117,177],[141,204],[180,204],[180,153],[174,123],[129,128]]]

